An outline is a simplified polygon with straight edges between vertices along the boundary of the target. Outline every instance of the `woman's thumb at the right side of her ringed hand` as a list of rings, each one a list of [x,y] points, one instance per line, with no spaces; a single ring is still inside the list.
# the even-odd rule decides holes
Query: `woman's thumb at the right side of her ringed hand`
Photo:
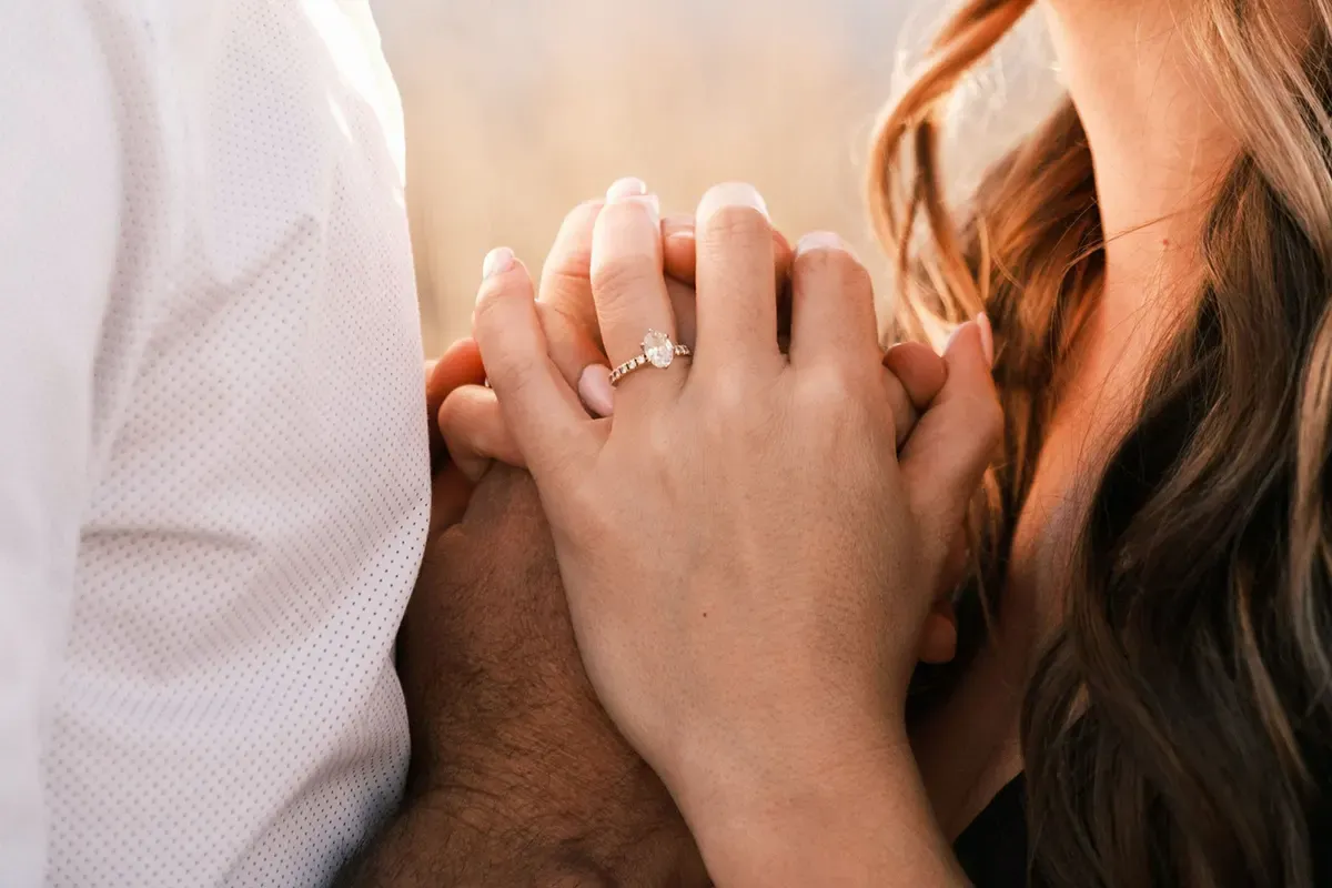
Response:
[[[954,333],[944,349],[948,378],[902,451],[912,513],[938,555],[948,551],[1003,438],[1003,410],[991,377],[994,333],[986,316]]]

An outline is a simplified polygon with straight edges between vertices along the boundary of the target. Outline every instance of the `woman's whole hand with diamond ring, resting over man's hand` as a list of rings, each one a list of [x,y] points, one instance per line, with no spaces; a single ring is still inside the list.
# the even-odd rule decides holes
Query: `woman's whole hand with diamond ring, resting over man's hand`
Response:
[[[870,280],[840,241],[797,250],[787,359],[757,193],[709,192],[697,237],[697,354],[627,377],[613,423],[547,357],[511,254],[490,265],[476,335],[554,529],[589,676],[691,824],[718,835],[793,793],[886,777],[907,750],[918,636],[1000,417],[988,328],[966,325],[899,463]],[[599,213],[591,276],[611,361],[649,329],[674,335],[649,201]],[[699,840],[707,855],[709,829]]]

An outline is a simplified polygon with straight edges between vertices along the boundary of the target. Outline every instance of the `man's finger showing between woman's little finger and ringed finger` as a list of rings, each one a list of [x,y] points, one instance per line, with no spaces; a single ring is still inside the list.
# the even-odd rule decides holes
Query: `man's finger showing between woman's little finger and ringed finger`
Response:
[[[591,236],[605,201],[575,206],[559,226],[541,268],[537,310],[550,357],[570,386],[583,370],[606,363],[591,300]]]

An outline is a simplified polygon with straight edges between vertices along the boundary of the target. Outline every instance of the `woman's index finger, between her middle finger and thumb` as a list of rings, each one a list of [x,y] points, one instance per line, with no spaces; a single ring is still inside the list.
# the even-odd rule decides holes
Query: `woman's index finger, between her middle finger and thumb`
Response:
[[[791,265],[791,366],[882,361],[870,273],[839,236],[806,234]]]

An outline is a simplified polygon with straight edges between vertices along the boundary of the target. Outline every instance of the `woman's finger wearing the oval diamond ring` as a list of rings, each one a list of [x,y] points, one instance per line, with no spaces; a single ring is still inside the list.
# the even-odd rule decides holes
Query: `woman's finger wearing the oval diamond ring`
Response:
[[[673,341],[677,337],[662,274],[657,197],[639,193],[642,190],[646,189],[638,180],[615,182],[606,193],[606,206],[593,230],[593,301],[611,365],[643,354],[650,332]],[[674,363],[673,355],[659,366],[670,363]],[[655,387],[643,385],[647,377],[661,385],[666,374],[639,370],[625,377],[623,386],[634,391]]]

